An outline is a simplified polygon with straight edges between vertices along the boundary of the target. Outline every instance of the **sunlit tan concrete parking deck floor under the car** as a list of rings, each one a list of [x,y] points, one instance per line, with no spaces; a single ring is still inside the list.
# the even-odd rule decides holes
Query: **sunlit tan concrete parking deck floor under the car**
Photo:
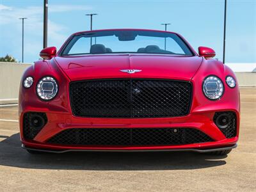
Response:
[[[193,152],[72,152],[20,148],[17,107],[0,108],[0,191],[256,191],[256,88],[241,88],[238,147]]]

